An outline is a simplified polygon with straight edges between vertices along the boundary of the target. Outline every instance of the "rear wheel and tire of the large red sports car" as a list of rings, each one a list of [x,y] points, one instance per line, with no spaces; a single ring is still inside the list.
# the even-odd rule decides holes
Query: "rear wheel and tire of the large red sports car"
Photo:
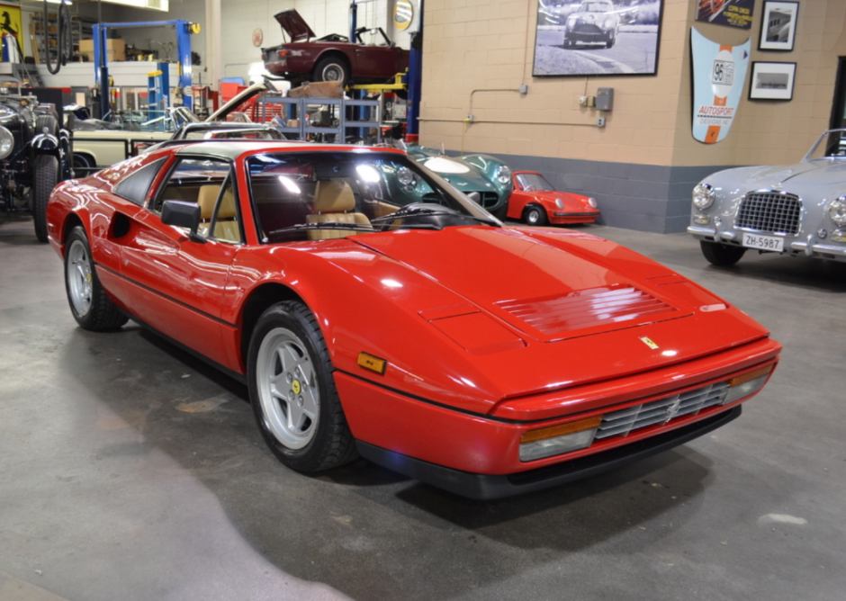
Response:
[[[65,292],[70,312],[80,327],[103,331],[117,329],[129,320],[103,289],[82,226],[76,226],[67,235]]]

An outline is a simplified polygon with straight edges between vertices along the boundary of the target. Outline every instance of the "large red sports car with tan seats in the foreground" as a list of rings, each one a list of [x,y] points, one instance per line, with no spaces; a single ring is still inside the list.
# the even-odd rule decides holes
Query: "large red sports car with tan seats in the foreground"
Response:
[[[542,489],[731,421],[779,360],[682,275],[503,227],[393,149],[174,144],[59,184],[47,220],[79,325],[131,318],[245,381],[298,471]]]

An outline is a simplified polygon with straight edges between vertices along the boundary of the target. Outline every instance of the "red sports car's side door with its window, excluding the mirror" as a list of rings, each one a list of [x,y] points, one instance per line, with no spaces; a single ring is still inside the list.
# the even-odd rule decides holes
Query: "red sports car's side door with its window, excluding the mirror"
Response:
[[[244,239],[234,170],[229,161],[178,157],[121,246],[121,274],[130,309],[165,336],[231,367],[222,344],[234,324],[220,319],[229,266]],[[201,225],[193,239],[162,223],[167,200],[197,202]]]

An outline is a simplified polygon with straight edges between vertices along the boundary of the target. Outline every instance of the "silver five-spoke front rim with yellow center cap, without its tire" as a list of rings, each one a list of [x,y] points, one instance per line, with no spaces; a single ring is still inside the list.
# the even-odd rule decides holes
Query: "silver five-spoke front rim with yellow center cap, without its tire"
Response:
[[[311,355],[291,330],[276,327],[257,355],[258,398],[265,425],[289,449],[311,442],[320,415],[320,387]]]

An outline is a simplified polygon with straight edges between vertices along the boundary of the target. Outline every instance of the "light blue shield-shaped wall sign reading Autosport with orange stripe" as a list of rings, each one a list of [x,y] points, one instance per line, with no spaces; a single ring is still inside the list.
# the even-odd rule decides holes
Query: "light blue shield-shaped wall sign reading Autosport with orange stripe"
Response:
[[[714,144],[728,135],[746,86],[752,40],[725,46],[690,30],[693,56],[693,137]]]

